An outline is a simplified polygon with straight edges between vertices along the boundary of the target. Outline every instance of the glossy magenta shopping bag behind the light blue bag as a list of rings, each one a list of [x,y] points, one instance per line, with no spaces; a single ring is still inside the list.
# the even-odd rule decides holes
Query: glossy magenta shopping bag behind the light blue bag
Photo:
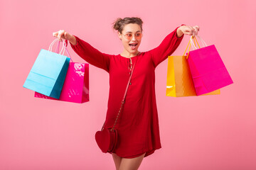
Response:
[[[65,51],[68,53],[68,57],[70,57],[66,47]],[[63,89],[58,100],[73,103],[85,103],[89,101],[89,64],[73,62],[71,57],[70,60],[71,62],[69,63]],[[37,98],[57,100],[56,98],[51,98],[37,92],[35,92],[34,96]]]

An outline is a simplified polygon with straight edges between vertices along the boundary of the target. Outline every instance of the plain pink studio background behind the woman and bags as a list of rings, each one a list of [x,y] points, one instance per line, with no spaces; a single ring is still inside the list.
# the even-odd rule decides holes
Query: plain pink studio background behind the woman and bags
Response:
[[[114,169],[95,142],[107,111],[109,76],[90,65],[90,102],[34,98],[23,88],[41,50],[64,29],[101,52],[119,54],[112,30],[117,18],[139,16],[139,51],[158,46],[182,23],[200,26],[234,84],[218,96],[172,98],[166,93],[167,60],[156,68],[162,148],[140,169],[256,169],[255,1],[0,1],[0,169]],[[173,55],[182,55],[186,35]],[[68,50],[75,62],[85,62]]]

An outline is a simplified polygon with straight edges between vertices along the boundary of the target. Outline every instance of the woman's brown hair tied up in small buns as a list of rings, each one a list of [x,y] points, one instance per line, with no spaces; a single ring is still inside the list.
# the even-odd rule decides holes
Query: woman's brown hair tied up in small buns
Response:
[[[138,17],[125,17],[125,18],[117,18],[114,23],[112,23],[112,28],[114,30],[118,30],[119,33],[122,33],[122,30],[124,29],[124,26],[128,23],[137,23],[140,28],[142,29],[142,19]]]

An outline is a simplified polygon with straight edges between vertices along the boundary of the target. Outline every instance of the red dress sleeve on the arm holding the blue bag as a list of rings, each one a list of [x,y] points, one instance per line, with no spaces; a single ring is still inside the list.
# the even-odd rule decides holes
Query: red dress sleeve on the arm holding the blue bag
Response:
[[[70,43],[73,50],[86,62],[109,72],[110,55],[100,52],[95,49],[95,47],[92,47],[88,42],[81,40],[77,36],[75,36],[75,38],[77,40],[77,44],[73,45]]]

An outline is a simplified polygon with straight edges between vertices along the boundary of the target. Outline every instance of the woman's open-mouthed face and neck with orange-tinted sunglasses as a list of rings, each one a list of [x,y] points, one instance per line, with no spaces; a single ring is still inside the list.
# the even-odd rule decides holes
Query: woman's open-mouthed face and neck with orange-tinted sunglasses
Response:
[[[124,26],[122,34],[118,32],[118,36],[124,45],[122,55],[127,57],[136,56],[142,41],[142,29],[140,26],[137,23],[128,23]]]

